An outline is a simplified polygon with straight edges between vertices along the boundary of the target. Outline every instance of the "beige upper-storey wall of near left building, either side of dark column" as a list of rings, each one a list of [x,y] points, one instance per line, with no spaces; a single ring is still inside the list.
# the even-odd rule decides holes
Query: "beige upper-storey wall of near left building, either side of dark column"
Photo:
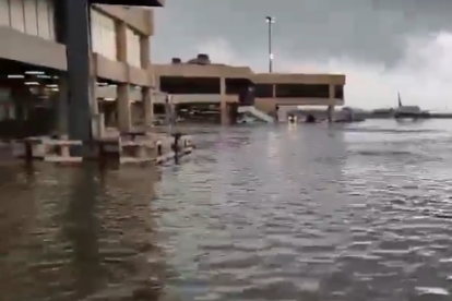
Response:
[[[154,86],[148,45],[152,11],[111,5],[92,10],[93,73]],[[53,16],[52,0],[0,0],[0,58],[66,71],[66,46],[55,41]],[[118,24],[124,24],[122,29]]]

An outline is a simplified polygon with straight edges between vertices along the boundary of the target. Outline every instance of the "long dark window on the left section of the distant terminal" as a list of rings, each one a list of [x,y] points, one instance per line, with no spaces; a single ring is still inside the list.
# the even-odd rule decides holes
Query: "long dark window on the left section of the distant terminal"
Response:
[[[221,94],[218,77],[162,76],[160,91],[169,94]]]

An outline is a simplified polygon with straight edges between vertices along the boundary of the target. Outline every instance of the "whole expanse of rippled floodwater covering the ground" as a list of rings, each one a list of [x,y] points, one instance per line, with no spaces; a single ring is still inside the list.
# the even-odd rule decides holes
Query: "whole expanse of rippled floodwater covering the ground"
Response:
[[[160,171],[2,167],[0,300],[451,300],[451,129],[204,128]]]

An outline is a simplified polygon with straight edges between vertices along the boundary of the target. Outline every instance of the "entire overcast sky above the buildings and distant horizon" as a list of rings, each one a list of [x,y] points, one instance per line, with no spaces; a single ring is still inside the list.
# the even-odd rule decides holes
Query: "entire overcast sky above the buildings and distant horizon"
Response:
[[[452,110],[452,0],[167,0],[153,60],[205,52],[267,68],[265,16],[276,19],[276,72],[347,75],[346,101]]]

